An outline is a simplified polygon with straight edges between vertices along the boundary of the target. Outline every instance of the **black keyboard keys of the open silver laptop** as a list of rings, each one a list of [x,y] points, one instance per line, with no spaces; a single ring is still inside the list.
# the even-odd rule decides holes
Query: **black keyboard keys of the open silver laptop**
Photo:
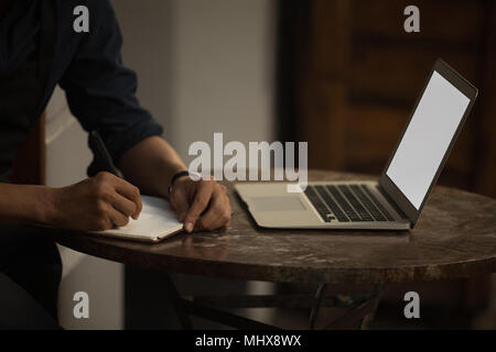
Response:
[[[309,185],[305,195],[325,222],[395,220],[368,185]]]

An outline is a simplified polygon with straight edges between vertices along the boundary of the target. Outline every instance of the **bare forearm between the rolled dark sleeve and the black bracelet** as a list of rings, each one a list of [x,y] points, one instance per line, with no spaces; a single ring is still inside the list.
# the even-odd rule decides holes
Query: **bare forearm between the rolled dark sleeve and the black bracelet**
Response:
[[[187,169],[174,148],[159,136],[148,138],[122,155],[119,168],[142,194],[168,197],[172,176]]]

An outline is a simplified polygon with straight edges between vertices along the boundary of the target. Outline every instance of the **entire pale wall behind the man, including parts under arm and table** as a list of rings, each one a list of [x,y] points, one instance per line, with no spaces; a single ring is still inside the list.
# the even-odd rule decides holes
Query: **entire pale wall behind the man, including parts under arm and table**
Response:
[[[138,73],[138,97],[187,160],[194,141],[273,139],[274,0],[112,0],[125,37],[125,64]],[[86,135],[57,92],[47,111],[48,185],[86,177]],[[122,268],[63,250],[61,322],[65,328],[119,329]],[[86,290],[90,319],[72,316]],[[260,289],[258,289],[260,292]]]

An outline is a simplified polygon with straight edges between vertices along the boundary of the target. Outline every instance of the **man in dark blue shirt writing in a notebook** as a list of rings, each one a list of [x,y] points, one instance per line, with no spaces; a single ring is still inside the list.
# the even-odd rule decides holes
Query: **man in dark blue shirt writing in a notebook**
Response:
[[[87,33],[73,29],[77,6],[89,10]],[[140,193],[170,199],[187,232],[227,226],[230,207],[224,186],[187,177],[162,128],[139,106],[108,0],[0,0],[0,328],[50,328],[60,256],[41,230],[26,226],[121,227],[139,217]],[[96,176],[68,187],[8,183],[14,153],[57,84],[83,128],[99,132],[127,180],[97,173],[94,161],[88,173]]]

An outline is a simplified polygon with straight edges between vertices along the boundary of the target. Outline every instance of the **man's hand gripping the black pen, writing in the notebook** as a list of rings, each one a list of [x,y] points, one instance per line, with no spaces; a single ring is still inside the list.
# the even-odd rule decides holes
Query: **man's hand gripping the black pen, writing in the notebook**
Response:
[[[83,231],[123,227],[130,217],[138,219],[142,207],[139,189],[109,173],[54,188],[51,200],[48,224]]]

